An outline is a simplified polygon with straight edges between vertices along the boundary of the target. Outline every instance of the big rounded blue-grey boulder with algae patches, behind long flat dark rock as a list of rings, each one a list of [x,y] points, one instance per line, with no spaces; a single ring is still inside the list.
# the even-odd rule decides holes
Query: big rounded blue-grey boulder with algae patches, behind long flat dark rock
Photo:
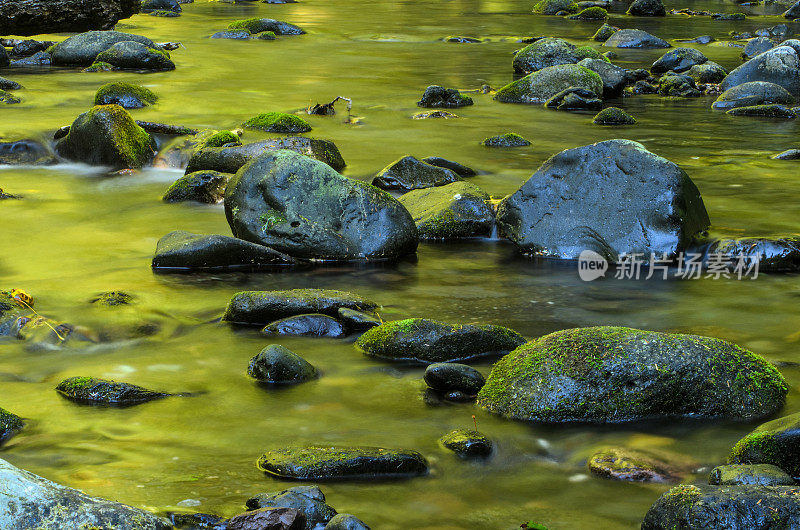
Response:
[[[243,166],[226,188],[225,215],[236,237],[300,258],[397,259],[418,243],[414,220],[394,197],[292,151]]]

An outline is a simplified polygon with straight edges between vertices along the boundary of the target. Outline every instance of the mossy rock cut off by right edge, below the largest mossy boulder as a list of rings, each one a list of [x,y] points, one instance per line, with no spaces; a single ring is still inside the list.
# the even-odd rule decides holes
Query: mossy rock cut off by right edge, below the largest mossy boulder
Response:
[[[800,413],[768,421],[739,440],[729,464],[772,464],[800,478]]]

